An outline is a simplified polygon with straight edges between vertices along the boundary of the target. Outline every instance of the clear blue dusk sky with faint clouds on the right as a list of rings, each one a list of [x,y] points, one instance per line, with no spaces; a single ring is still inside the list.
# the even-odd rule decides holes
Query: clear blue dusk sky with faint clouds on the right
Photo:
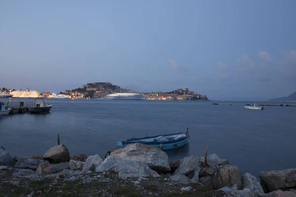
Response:
[[[0,1],[0,87],[296,91],[295,0]]]

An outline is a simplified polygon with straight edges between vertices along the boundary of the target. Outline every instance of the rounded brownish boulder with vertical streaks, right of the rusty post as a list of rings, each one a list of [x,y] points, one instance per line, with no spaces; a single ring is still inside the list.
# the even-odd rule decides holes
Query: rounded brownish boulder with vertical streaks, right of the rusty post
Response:
[[[235,165],[220,166],[213,177],[213,183],[215,189],[232,187],[234,184],[240,189],[242,185],[240,169]]]

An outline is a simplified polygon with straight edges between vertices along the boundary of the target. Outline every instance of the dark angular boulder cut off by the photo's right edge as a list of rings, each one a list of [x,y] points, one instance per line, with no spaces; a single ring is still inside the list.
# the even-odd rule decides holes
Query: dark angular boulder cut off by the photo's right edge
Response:
[[[293,188],[296,187],[296,168],[260,172],[259,178],[266,192]]]

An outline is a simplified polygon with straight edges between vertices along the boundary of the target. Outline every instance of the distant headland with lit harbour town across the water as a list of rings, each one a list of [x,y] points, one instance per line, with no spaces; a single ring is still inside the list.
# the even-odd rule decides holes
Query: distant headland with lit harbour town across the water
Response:
[[[2,88],[5,94],[11,94],[13,98],[70,98],[70,99],[147,99],[147,100],[209,100],[207,96],[194,93],[188,88],[176,89],[171,92],[135,92],[124,89],[108,82],[87,83],[82,87],[66,90],[65,92],[39,93],[37,90],[18,91]]]

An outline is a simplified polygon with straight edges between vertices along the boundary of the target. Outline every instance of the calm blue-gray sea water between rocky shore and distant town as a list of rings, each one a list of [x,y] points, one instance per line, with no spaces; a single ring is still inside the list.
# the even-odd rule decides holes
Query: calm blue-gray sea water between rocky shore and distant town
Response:
[[[48,114],[0,116],[0,145],[12,157],[43,155],[57,145],[57,134],[71,155],[104,157],[107,151],[116,148],[116,141],[182,132],[188,127],[189,146],[167,151],[170,161],[203,156],[208,144],[208,154],[229,159],[242,173],[258,176],[260,171],[296,167],[296,107],[247,110],[244,104],[254,103],[250,101],[216,101],[219,105],[212,105],[213,101],[47,99],[47,102],[53,104]]]

